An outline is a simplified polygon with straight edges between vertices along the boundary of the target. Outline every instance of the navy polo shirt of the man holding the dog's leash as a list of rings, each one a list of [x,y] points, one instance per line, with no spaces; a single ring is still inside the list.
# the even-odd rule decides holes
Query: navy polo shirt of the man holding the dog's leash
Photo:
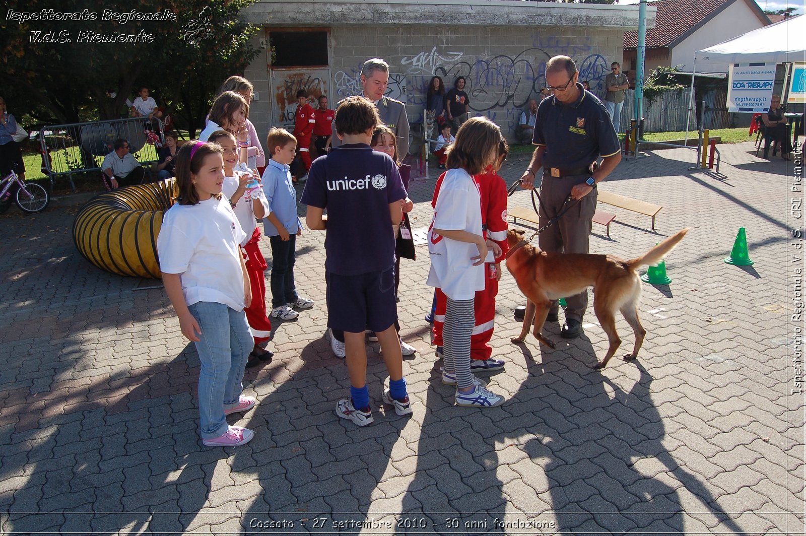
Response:
[[[544,169],[582,168],[621,151],[605,105],[579,82],[576,87],[580,98],[575,102],[563,104],[551,95],[538,106],[532,143],[546,147]]]

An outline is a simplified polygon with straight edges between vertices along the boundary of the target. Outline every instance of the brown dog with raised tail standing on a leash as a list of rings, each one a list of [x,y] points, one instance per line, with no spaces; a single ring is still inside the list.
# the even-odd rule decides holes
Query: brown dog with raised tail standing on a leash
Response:
[[[679,231],[640,257],[621,260],[612,255],[548,253],[530,246],[523,239],[523,231],[507,231],[509,252],[506,268],[528,300],[523,329],[512,342],[522,343],[526,339],[534,319],[534,336],[541,343],[554,348],[554,343],[541,333],[551,301],[574,296],[593,287],[593,310],[610,342],[605,359],[596,368],[605,368],[621,345],[616,332],[616,311],[621,311],[635,334],[633,351],[626,354],[624,359],[635,359],[646,335],[638,320],[641,280],[635,270],[647,264],[658,264],[687,232],[688,228]]]

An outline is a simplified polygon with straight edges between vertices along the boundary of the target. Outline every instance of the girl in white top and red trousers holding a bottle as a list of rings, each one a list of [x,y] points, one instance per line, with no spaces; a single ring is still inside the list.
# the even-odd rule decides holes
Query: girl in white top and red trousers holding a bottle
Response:
[[[255,338],[255,347],[247,363],[249,368],[260,364],[261,361],[270,362],[273,355],[271,351],[260,347],[272,339],[272,322],[266,316],[266,279],[263,274],[268,264],[260,252],[260,229],[255,219],[263,219],[268,214],[268,201],[263,189],[260,188],[260,177],[257,173],[236,169],[243,156],[242,153],[246,153],[247,148],[238,148],[235,136],[227,131],[213,132],[208,141],[220,145],[224,150],[222,193],[229,199],[232,210],[235,211],[235,216],[238,217],[238,222],[247,235],[241,242],[241,248],[247,256],[246,266],[252,292],[252,302],[247,307],[246,314]]]

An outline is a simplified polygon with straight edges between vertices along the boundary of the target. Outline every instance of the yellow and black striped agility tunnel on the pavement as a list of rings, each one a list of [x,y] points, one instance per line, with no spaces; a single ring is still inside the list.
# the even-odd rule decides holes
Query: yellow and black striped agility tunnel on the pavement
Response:
[[[73,242],[92,264],[121,276],[160,278],[156,237],[177,197],[176,179],[124,186],[93,197],[73,222]]]

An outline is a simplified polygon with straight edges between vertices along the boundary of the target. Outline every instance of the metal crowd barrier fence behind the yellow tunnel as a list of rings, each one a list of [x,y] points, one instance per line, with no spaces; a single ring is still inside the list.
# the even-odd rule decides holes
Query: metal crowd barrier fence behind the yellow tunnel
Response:
[[[73,175],[101,172],[104,157],[114,151],[114,140],[119,138],[126,139],[131,155],[143,164],[143,168],[150,169],[150,164],[159,157],[156,145],[149,143],[149,131],[156,134],[160,143],[165,142],[162,122],[158,118],[122,118],[42,127],[38,135],[39,151],[51,189],[55,177],[67,176],[70,186],[76,189]]]

